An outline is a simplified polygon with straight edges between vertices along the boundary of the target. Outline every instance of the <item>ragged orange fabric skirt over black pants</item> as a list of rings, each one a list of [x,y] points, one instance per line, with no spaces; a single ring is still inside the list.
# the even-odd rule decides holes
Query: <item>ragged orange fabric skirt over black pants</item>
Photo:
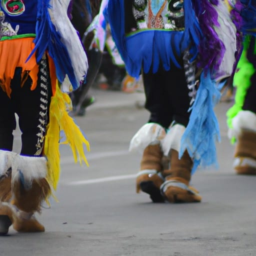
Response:
[[[14,76],[15,68],[21,67],[21,81],[29,75],[32,79],[31,90],[36,87],[38,64],[35,54],[28,60],[27,57],[34,48],[34,37],[6,39],[0,41],[0,86],[10,97],[10,81]],[[27,61],[26,61],[27,60]],[[52,93],[55,94],[56,72],[52,58],[48,56]],[[22,82],[20,84],[22,86]]]

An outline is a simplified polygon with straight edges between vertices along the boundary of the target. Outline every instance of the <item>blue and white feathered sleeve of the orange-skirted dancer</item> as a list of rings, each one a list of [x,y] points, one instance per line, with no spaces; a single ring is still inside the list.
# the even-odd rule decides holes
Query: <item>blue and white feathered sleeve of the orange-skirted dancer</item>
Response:
[[[76,89],[84,81],[88,64],[80,38],[68,17],[69,3],[70,0],[38,0],[33,52],[36,51],[39,61],[47,50],[59,82],[68,76],[72,89]]]

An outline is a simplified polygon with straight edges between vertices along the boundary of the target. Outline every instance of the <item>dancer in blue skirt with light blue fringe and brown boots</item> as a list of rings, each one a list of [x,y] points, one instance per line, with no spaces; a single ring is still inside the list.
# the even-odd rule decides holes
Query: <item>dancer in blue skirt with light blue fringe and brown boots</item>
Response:
[[[142,69],[150,112],[130,141],[142,152],[136,191],[153,202],[199,202],[191,175],[198,165],[217,165],[216,85],[235,61],[225,1],[109,0],[105,13],[127,72],[138,77]]]

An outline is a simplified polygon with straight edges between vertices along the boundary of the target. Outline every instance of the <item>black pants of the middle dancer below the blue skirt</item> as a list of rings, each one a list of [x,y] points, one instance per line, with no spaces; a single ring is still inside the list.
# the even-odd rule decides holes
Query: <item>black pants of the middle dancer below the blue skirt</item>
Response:
[[[190,98],[184,69],[171,65],[169,71],[162,67],[156,73],[143,73],[145,108],[150,112],[149,122],[168,128],[172,121],[187,125]]]

